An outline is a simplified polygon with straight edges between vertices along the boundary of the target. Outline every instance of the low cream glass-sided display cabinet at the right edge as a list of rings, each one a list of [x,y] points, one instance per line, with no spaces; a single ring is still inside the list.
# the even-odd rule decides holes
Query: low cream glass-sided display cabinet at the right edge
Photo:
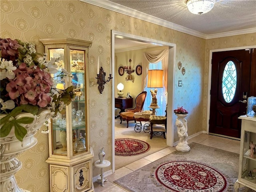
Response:
[[[238,180],[234,189],[240,186],[256,190],[256,116],[240,116],[242,119]]]

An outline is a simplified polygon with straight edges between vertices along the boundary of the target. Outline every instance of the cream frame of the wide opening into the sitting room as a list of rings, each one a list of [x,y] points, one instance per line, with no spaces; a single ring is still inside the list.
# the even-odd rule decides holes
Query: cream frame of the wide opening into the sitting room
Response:
[[[115,30],[111,30],[111,58],[112,62],[110,63],[112,65],[112,172],[115,172],[115,37],[119,38],[126,38],[130,40],[140,41],[140,42],[146,42],[149,44],[156,44],[159,46],[168,46],[169,47],[169,59],[168,59],[168,88],[167,88],[167,101],[168,102],[168,108],[167,108],[167,128],[166,132],[168,133],[166,135],[166,145],[173,146],[174,145],[174,119],[172,118],[172,109],[174,106],[174,68],[176,67],[176,44],[169,43],[169,42],[163,42],[155,39],[145,38],[141,36],[136,36],[124,32],[119,32]]]

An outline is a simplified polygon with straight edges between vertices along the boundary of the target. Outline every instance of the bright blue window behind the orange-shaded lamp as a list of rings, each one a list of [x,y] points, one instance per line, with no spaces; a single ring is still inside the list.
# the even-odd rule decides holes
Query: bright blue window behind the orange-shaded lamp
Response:
[[[148,69],[163,69],[162,68],[162,62],[158,62],[155,64],[150,63]],[[144,102],[143,110],[152,110],[151,108],[148,108],[152,102],[152,96],[150,93],[150,89],[154,88],[148,88],[148,76],[147,76],[147,82],[146,82],[146,87],[144,87],[144,91],[147,92],[146,100]],[[156,109],[156,115],[158,116],[165,116],[165,110],[166,110],[166,88],[157,88],[157,104],[160,108]]]

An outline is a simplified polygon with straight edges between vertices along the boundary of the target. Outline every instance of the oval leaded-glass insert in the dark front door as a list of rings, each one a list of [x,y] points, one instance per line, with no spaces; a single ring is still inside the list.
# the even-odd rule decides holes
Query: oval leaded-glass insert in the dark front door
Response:
[[[222,75],[222,95],[227,103],[230,103],[236,92],[237,75],[234,62],[227,62]]]

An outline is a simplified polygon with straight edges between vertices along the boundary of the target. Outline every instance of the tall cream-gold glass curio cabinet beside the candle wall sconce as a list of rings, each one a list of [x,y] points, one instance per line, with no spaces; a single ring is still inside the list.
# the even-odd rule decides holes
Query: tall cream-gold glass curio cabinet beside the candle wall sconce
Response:
[[[58,76],[67,71],[66,78],[57,77],[57,91],[74,87],[76,97],[51,120],[49,132],[50,190],[51,192],[93,192],[92,158],[89,133],[88,49],[84,40],[41,39],[49,59],[56,62]]]

